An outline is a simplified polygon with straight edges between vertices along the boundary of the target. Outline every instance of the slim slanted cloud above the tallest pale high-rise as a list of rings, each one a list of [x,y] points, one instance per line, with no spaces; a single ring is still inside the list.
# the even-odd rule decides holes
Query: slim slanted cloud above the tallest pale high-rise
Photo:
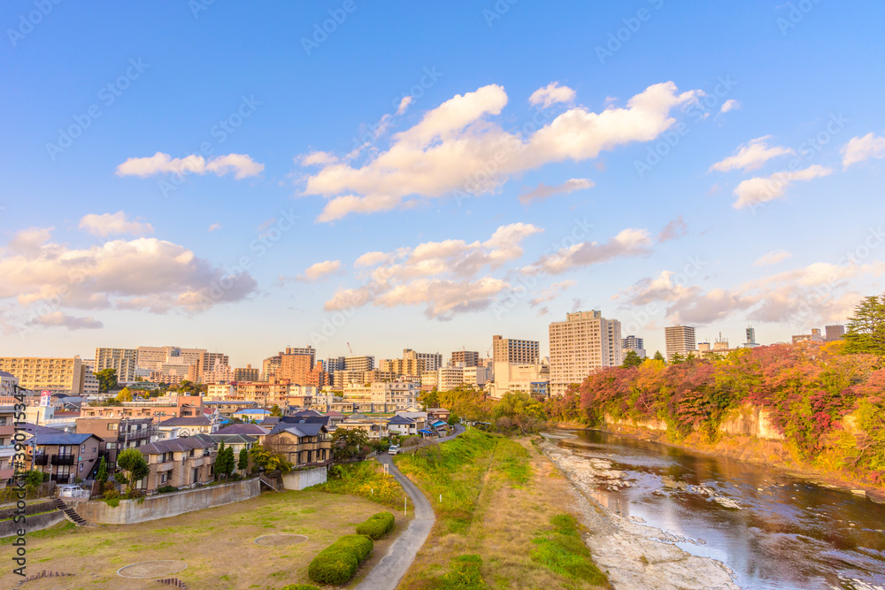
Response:
[[[651,238],[647,230],[628,228],[605,243],[581,241],[573,246],[546,254],[535,264],[522,268],[527,274],[547,272],[560,274],[580,266],[599,264],[615,258],[645,256],[651,252]]]

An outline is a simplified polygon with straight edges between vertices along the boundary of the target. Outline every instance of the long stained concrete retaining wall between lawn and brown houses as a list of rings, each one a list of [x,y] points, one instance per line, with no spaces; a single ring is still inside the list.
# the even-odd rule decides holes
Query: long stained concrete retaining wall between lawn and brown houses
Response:
[[[120,500],[116,508],[103,501],[76,502],[73,509],[89,522],[132,525],[249,500],[261,494],[260,486],[258,479],[246,479],[223,486],[156,494],[145,498],[141,503],[137,500]]]

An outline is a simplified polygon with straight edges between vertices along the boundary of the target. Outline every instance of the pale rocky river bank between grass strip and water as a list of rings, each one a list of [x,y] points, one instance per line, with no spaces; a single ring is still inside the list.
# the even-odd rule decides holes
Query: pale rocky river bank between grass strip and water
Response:
[[[551,442],[552,439],[554,442]],[[740,588],[724,563],[692,556],[673,543],[703,543],[658,528],[639,519],[621,517],[594,499],[596,488],[629,487],[620,471],[602,459],[582,459],[558,448],[555,435],[545,435],[541,448],[572,484],[588,528],[594,560],[607,573],[615,588],[650,590],[709,590]]]

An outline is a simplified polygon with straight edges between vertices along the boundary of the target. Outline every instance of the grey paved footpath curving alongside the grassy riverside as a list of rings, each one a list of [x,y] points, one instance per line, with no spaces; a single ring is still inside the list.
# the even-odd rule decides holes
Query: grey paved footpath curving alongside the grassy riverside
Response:
[[[437,442],[450,441],[464,431],[464,426],[456,425],[454,434],[437,439]],[[405,477],[402,471],[396,469],[396,464],[391,457],[385,454],[376,458],[379,463],[389,465],[390,475],[399,482],[405,493],[409,494],[415,517],[404,533],[390,546],[388,554],[381,558],[381,561],[369,572],[366,579],[357,586],[357,590],[394,590],[399,584],[399,580],[403,579],[409,566],[415,561],[419,548],[424,545],[424,541],[427,540],[427,535],[430,534],[430,529],[434,527],[436,521],[430,502],[427,502],[427,498],[421,494],[421,490]]]

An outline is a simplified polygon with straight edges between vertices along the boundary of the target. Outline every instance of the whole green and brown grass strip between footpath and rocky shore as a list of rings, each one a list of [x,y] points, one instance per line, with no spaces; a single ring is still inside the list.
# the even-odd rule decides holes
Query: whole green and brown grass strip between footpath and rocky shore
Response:
[[[469,430],[396,464],[437,514],[399,588],[608,586],[569,513],[577,512],[571,488],[527,440]]]

